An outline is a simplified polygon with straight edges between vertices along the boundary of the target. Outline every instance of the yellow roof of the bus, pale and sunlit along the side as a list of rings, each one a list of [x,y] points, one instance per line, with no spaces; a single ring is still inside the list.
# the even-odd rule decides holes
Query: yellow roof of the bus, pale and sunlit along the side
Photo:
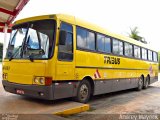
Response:
[[[71,16],[71,15],[66,15],[66,14],[52,14],[52,15],[35,16],[35,17],[30,17],[30,18],[25,18],[25,19],[18,20],[14,24],[20,24],[20,23],[23,23],[23,22],[40,20],[40,19],[53,19],[53,18],[62,20],[64,22],[67,22],[67,23],[70,23],[70,24],[73,24],[73,25],[84,27],[84,28],[87,28],[89,30],[93,30],[95,32],[105,34],[105,35],[111,36],[113,38],[117,38],[117,39],[129,42],[129,43],[135,44],[137,46],[141,46],[141,47],[144,47],[144,48],[155,51],[153,48],[151,48],[149,46],[149,44],[144,44],[140,41],[134,40],[134,39],[129,38],[129,37],[124,36],[124,35],[112,33],[109,30],[106,30],[105,28],[102,28],[102,27],[97,26],[95,24],[86,22],[84,20],[81,20],[79,18],[76,18],[76,17]]]

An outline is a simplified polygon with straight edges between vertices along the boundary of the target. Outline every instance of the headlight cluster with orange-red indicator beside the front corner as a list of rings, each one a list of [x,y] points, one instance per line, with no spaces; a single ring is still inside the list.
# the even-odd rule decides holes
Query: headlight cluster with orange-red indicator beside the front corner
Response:
[[[39,77],[36,76],[33,79],[33,84],[36,85],[51,85],[52,84],[52,77]]]

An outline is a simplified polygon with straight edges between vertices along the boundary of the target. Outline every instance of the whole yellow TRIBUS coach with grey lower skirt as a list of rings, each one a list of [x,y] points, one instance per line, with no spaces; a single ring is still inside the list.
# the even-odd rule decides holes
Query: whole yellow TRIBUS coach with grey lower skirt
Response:
[[[74,16],[16,21],[3,61],[7,92],[46,100],[147,88],[158,80],[158,54],[149,45]]]

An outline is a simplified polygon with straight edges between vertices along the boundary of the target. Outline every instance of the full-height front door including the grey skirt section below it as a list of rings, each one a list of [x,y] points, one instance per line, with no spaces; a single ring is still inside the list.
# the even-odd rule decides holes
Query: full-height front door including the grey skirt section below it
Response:
[[[73,27],[70,24],[61,23],[58,59],[56,64],[56,83],[54,98],[72,97],[74,94],[74,57],[73,57]]]

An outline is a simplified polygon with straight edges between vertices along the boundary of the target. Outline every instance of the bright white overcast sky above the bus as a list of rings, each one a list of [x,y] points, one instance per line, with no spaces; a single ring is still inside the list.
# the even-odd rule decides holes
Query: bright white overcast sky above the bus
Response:
[[[138,27],[139,35],[160,51],[159,11],[160,0],[30,0],[16,20],[64,13],[126,36]]]

